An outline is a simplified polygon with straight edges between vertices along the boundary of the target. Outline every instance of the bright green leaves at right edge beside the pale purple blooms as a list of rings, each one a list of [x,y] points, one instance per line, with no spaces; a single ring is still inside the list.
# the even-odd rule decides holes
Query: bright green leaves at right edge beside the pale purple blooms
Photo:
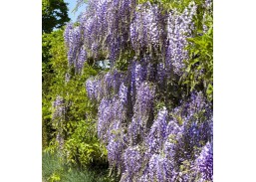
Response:
[[[189,44],[186,50],[189,53],[185,72],[181,78],[182,84],[190,91],[204,91],[207,98],[213,99],[213,17],[212,9],[198,4],[197,14],[194,17],[194,37],[187,39]],[[203,9],[203,11],[200,11]],[[203,28],[203,25],[206,26]]]

